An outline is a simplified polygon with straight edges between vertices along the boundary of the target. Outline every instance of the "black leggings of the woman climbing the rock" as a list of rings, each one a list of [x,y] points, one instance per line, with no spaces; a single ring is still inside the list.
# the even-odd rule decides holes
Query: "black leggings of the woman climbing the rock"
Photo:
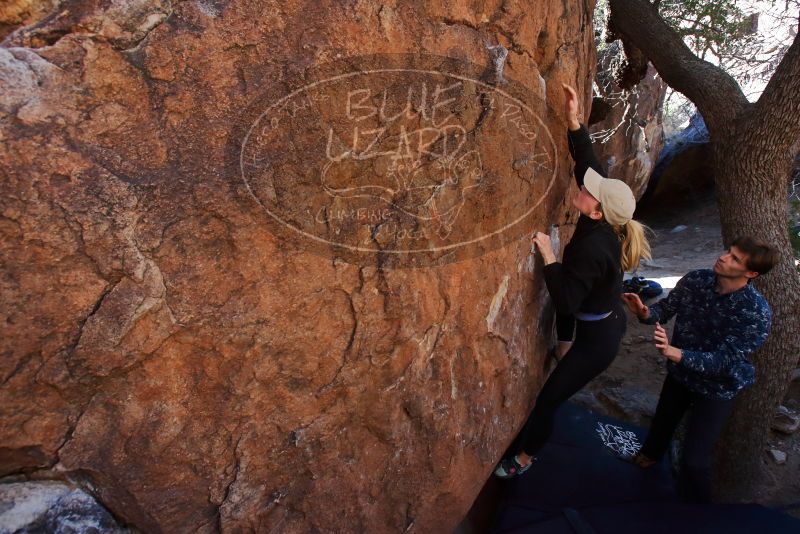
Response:
[[[614,361],[626,325],[621,303],[605,319],[576,321],[575,342],[539,392],[514,452],[523,451],[530,456],[539,452],[553,432],[558,407]]]

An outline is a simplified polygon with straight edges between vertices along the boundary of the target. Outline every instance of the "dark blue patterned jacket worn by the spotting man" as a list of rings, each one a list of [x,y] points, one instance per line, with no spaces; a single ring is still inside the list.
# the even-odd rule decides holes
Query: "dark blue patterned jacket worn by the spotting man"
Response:
[[[641,322],[663,325],[677,314],[670,345],[683,358],[668,361],[667,370],[691,391],[732,399],[755,382],[748,358],[767,339],[772,310],[752,284],[727,295],[718,294],[715,284],[711,269],[688,273]]]

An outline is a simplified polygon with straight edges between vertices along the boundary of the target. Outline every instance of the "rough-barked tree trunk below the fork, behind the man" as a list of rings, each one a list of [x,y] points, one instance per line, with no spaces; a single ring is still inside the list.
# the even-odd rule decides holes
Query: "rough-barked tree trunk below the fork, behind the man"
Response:
[[[716,489],[724,500],[751,500],[762,481],[762,458],[777,404],[800,354],[800,279],[787,232],[786,192],[791,160],[770,158],[749,120],[736,121],[714,144],[722,238],[758,237],[778,247],[781,261],[756,287],[769,302],[772,328],[753,356],[756,384],[742,393],[717,448]]]

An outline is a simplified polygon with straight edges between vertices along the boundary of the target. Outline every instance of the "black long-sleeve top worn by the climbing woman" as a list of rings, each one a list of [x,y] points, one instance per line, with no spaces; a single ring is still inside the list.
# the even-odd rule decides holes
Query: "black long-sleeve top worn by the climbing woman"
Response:
[[[583,186],[589,167],[605,176],[584,126],[568,132],[567,140],[575,161],[578,187]],[[604,219],[598,221],[581,214],[575,233],[564,248],[564,259],[545,266],[544,277],[558,314],[558,339],[571,340],[576,312],[602,314],[620,302],[622,245],[619,237]]]

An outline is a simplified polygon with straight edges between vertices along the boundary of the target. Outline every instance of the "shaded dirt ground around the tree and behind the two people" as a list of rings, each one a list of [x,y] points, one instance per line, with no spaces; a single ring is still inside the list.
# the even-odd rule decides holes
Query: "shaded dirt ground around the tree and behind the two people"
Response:
[[[712,267],[722,251],[719,217],[713,200],[690,211],[655,216],[645,222],[655,232],[651,236],[653,260],[637,274],[658,280],[665,288],[674,286],[690,270]],[[652,332],[653,327],[629,316],[628,331],[617,359],[580,394],[582,403],[600,402],[610,415],[642,426],[649,424],[666,374],[663,357],[653,347]],[[795,410],[800,408],[800,380],[791,385],[783,404]],[[778,465],[764,451],[762,461],[768,477],[758,502],[775,508],[793,508],[787,511],[800,517],[800,431],[789,436],[772,431],[768,442],[769,448],[785,452],[787,460]]]

